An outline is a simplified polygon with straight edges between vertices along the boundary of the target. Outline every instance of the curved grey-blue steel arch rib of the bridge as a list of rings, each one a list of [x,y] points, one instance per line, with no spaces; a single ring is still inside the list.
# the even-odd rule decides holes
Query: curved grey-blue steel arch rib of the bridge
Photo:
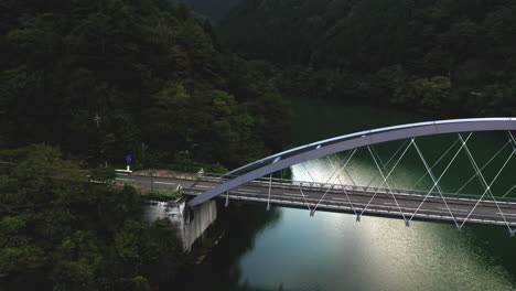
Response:
[[[450,119],[428,122],[417,122],[395,127],[366,130],[335,137],[318,142],[312,142],[291,150],[287,150],[256,162],[249,163],[226,175],[239,175],[224,184],[218,185],[189,202],[193,207],[208,201],[222,193],[230,191],[239,185],[255,179],[268,175],[281,169],[302,163],[304,161],[318,159],[335,152],[346,151],[354,148],[423,136],[434,136],[441,133],[459,133],[474,131],[501,131],[516,130],[516,118],[467,118]]]

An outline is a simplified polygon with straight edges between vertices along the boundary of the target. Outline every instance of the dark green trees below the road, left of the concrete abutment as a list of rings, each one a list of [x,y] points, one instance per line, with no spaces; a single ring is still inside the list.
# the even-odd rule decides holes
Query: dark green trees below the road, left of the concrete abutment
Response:
[[[139,222],[135,188],[79,182],[85,173],[47,146],[13,154],[19,164],[0,173],[0,289],[150,290],[174,279],[175,230]]]

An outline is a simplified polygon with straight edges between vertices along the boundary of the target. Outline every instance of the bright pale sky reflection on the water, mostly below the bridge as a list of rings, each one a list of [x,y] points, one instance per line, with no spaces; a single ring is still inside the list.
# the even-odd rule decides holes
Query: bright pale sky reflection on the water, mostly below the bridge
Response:
[[[309,171],[311,165],[320,163],[305,164]],[[292,172],[309,179],[302,166]],[[416,222],[406,228],[387,218],[356,223],[351,215],[281,212],[281,222],[261,234],[239,262],[240,283],[268,289],[282,284],[284,290],[514,289],[514,276],[490,258],[495,254],[479,247],[492,233],[483,227],[458,231],[451,225]],[[506,235],[496,239],[491,242],[510,246]]]

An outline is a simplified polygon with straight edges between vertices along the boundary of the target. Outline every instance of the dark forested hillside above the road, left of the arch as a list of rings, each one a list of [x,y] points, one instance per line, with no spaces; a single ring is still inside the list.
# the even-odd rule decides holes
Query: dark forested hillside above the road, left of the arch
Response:
[[[171,0],[0,2],[0,147],[232,168],[281,148],[278,91]]]

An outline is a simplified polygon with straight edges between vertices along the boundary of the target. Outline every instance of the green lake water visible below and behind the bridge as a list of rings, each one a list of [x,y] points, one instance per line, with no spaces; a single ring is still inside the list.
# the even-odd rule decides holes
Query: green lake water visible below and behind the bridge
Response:
[[[290,146],[324,138],[407,122],[443,119],[442,116],[408,114],[395,109],[345,106],[334,101],[291,99],[293,134]],[[433,163],[456,136],[421,138],[416,142]],[[469,142],[482,165],[507,138],[503,133],[474,133]],[[387,161],[402,141],[375,146]],[[483,173],[491,181],[510,147],[501,152]],[[377,170],[365,149],[356,152],[348,165],[357,184],[372,181]],[[345,153],[330,157],[340,163]],[[451,155],[445,161],[449,161]],[[447,163],[447,162],[445,162]],[[434,170],[440,173],[445,163]],[[310,174],[304,170],[307,168]],[[333,169],[327,159],[292,166],[295,180],[324,182]],[[499,175],[493,193],[512,187],[516,159]],[[411,149],[393,174],[399,187],[412,186],[426,170]],[[454,192],[474,174],[465,153],[459,155],[441,186]],[[345,183],[351,179],[340,173]],[[376,179],[373,185],[381,181]],[[417,188],[428,188],[429,177]],[[475,179],[462,193],[482,193]],[[507,196],[515,196],[509,193]],[[456,230],[452,224],[363,217],[265,205],[232,203],[223,224],[226,235],[205,263],[184,277],[191,290],[516,290],[516,238],[506,228],[467,226]]]

